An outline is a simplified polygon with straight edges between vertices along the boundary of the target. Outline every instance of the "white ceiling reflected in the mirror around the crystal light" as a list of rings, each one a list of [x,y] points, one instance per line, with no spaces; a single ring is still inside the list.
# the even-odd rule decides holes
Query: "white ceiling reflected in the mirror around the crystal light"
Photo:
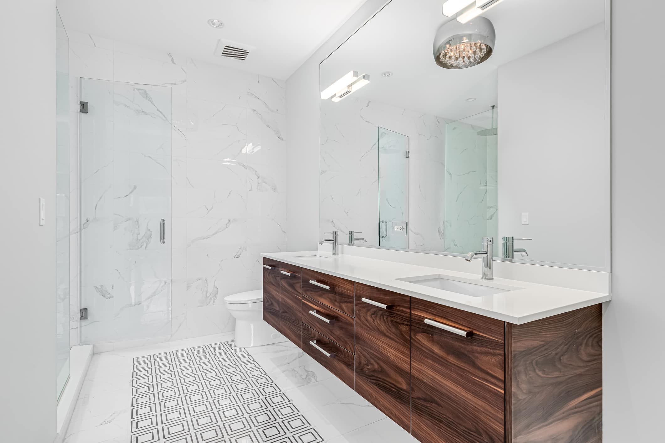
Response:
[[[392,0],[321,64],[321,89],[356,70],[370,74],[370,84],[354,94],[358,98],[458,120],[497,104],[499,66],[601,23],[604,3],[505,0],[483,14],[496,31],[491,58],[449,70],[440,68],[432,54],[436,30],[452,20],[441,14],[443,0]],[[384,71],[394,75],[384,78]],[[477,100],[467,102],[470,97]]]

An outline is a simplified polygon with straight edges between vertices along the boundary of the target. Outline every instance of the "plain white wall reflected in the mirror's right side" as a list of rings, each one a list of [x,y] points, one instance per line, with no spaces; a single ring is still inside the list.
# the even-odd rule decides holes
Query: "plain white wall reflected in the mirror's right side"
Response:
[[[608,268],[604,59],[600,23],[499,66],[499,236],[528,260]]]

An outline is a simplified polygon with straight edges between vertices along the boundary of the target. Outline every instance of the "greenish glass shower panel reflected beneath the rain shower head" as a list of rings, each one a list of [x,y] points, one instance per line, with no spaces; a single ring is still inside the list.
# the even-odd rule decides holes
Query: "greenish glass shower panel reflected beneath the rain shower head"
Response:
[[[446,252],[466,254],[497,237],[497,112],[491,111],[446,125]],[[498,243],[497,243],[498,242]]]

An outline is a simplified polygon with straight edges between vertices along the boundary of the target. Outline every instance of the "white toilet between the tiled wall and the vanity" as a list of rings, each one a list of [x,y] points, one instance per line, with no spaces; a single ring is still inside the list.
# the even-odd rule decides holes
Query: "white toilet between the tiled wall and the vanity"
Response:
[[[279,343],[287,339],[263,321],[263,290],[240,292],[224,298],[235,317],[235,345],[252,347]]]

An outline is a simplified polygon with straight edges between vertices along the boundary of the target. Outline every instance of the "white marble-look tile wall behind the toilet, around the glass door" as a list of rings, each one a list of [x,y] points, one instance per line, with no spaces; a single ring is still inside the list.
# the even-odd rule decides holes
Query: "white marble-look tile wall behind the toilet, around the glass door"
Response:
[[[80,77],[171,88],[171,326],[164,339],[232,330],[224,296],[259,288],[259,254],[285,250],[284,82],[76,31],[70,39],[74,103]],[[78,124],[77,113],[72,119]],[[87,298],[81,294],[82,305]]]

